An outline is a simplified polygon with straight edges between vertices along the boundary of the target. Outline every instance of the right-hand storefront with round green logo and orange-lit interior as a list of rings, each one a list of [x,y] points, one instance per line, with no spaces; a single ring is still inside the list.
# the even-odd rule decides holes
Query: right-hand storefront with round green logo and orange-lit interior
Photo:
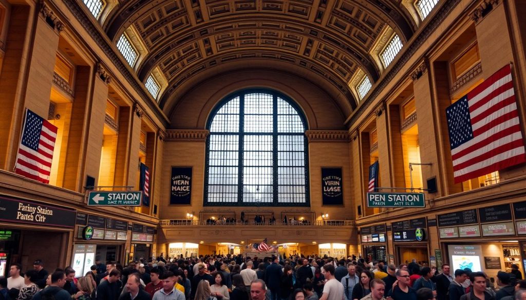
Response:
[[[391,228],[396,263],[408,264],[416,260],[421,266],[429,266],[427,219],[393,222]]]

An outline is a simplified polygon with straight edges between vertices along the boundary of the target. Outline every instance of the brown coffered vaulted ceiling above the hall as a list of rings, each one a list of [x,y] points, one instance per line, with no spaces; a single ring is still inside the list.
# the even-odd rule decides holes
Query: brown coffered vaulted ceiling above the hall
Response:
[[[156,67],[164,73],[168,87],[159,105],[165,112],[196,75],[256,60],[302,69],[346,95],[354,109],[348,82],[358,68],[373,82],[379,78],[369,52],[381,30],[390,26],[402,42],[416,30],[401,1],[129,0],[119,1],[103,29],[114,42],[130,25],[137,29],[148,52],[137,75],[144,82]]]

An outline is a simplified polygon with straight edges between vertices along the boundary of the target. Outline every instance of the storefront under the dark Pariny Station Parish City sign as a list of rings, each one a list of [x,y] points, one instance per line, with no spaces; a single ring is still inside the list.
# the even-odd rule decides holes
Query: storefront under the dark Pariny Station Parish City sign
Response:
[[[14,263],[29,270],[37,259],[47,270],[68,264],[63,248],[73,234],[75,210],[0,195],[0,211],[0,275]]]

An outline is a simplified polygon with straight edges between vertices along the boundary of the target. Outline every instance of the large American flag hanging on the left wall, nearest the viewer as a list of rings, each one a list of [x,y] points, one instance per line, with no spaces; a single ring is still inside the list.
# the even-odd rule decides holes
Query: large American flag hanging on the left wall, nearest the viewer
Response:
[[[15,173],[49,183],[56,139],[57,127],[26,109]]]

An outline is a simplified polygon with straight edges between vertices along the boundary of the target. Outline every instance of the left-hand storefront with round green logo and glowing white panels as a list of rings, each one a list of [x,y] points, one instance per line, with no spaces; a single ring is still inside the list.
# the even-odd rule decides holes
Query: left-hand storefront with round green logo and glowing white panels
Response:
[[[94,214],[77,213],[72,265],[76,276],[100,261],[123,261],[128,237],[128,222]]]

